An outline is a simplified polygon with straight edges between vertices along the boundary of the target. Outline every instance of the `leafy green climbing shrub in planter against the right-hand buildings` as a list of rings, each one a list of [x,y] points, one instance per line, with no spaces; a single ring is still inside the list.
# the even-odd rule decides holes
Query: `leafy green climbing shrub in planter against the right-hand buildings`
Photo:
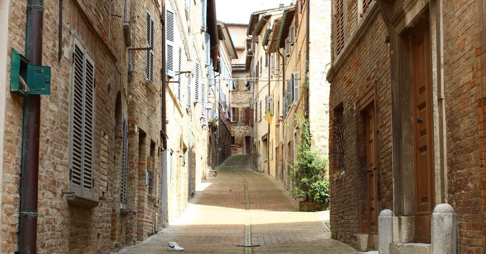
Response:
[[[294,197],[301,199],[299,210],[313,212],[329,203],[329,180],[325,179],[328,162],[311,147],[309,119],[297,116],[300,140],[297,160],[292,169]]]

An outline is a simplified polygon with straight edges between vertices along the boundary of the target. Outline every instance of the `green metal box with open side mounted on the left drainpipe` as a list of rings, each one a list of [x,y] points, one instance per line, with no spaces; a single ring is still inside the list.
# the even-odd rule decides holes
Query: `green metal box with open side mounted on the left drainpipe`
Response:
[[[10,91],[19,96],[51,94],[51,67],[30,65],[29,60],[12,49]]]

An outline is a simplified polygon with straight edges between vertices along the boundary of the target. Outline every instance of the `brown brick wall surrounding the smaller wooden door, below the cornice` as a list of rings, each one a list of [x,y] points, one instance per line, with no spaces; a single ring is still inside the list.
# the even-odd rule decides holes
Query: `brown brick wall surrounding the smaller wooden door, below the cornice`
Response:
[[[356,234],[360,233],[359,181],[358,169],[358,119],[356,104],[370,89],[378,87],[375,98],[378,106],[378,155],[379,155],[379,211],[393,209],[393,183],[391,167],[391,86],[390,57],[384,38],[386,26],[381,17],[371,21],[351,56],[330,79],[330,224],[338,231],[338,239],[357,247]],[[374,45],[370,47],[369,45]],[[357,53],[359,52],[359,53]],[[336,126],[336,106],[341,103],[342,94],[343,126]],[[344,168],[339,167],[337,132],[344,133]]]

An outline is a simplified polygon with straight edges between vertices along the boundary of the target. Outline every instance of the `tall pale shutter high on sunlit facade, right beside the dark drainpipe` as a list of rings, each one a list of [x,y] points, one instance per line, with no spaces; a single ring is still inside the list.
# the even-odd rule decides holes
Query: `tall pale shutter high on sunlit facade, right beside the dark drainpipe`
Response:
[[[174,53],[175,51],[175,14],[174,11],[167,8],[165,10],[165,47],[166,58],[165,66],[167,76],[175,77]]]

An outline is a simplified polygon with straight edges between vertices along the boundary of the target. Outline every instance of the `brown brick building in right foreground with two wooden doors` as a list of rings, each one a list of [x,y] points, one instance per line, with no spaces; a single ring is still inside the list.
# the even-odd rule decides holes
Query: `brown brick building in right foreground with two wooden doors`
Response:
[[[380,253],[485,252],[485,6],[332,0],[330,223],[339,240]]]

